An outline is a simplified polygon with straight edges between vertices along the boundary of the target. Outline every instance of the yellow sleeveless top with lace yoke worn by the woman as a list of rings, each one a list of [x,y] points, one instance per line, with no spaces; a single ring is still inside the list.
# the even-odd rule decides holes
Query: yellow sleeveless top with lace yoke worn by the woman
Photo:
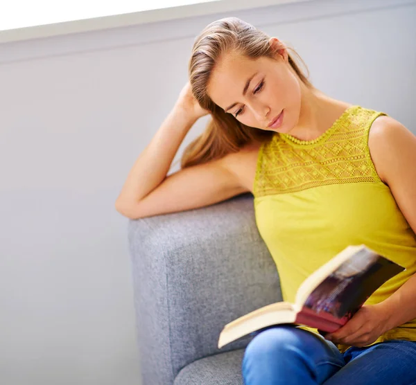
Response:
[[[293,303],[306,277],[350,244],[365,244],[406,267],[366,305],[384,301],[415,274],[416,235],[370,157],[368,134],[382,115],[387,114],[353,105],[312,141],[277,133],[261,144],[254,213],[284,301]],[[416,319],[374,343],[388,339],[416,341]],[[348,347],[338,345],[341,352]]]

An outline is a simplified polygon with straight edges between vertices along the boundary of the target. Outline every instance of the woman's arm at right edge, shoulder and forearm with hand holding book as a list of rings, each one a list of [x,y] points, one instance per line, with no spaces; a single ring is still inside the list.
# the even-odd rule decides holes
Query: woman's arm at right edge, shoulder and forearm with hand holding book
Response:
[[[416,233],[416,136],[390,116],[380,116],[372,124],[368,146],[377,174]],[[416,274],[385,301],[361,307],[342,328],[325,338],[369,345],[384,332],[415,319],[415,303]]]

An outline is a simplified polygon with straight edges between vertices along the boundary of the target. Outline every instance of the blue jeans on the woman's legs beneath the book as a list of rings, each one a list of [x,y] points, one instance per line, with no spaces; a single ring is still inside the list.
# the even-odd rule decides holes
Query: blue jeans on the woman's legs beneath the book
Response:
[[[341,353],[320,334],[279,325],[248,344],[243,379],[245,385],[415,385],[416,341],[395,339]]]

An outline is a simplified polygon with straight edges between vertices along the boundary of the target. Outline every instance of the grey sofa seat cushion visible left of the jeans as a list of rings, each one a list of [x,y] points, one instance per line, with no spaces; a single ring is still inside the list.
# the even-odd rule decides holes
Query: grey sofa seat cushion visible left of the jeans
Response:
[[[178,373],[173,385],[243,385],[241,361],[244,350],[198,359]]]

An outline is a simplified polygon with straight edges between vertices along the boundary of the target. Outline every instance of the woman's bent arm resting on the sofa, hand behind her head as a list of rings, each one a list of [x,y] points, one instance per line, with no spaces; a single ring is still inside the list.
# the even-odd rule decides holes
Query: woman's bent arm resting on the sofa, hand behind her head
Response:
[[[195,105],[187,84],[175,106],[130,170],[116,199],[116,210],[137,219],[199,208],[247,191],[229,170],[229,155],[193,165],[166,177],[193,124],[208,112]]]

